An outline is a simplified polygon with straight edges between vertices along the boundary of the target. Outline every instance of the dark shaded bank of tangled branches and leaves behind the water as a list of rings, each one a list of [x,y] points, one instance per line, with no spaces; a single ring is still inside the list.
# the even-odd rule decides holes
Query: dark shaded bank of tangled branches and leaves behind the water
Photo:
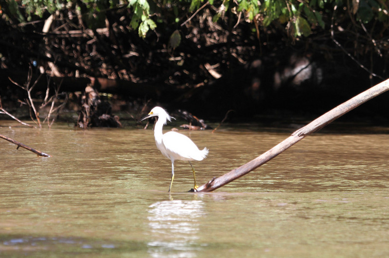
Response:
[[[0,94],[10,102],[19,96],[10,93],[15,86],[7,77],[23,84],[30,65],[33,74],[80,78],[64,80],[64,92],[83,91],[92,80],[133,107],[151,99],[219,116],[300,107],[307,95],[305,105],[314,106],[327,94],[325,110],[337,103],[335,95],[348,97],[388,77],[389,8],[382,0],[0,0],[0,6]]]

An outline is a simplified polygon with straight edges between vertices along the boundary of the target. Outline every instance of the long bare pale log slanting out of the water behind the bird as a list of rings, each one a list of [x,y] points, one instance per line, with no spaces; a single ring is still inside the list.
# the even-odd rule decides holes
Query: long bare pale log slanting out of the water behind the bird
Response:
[[[284,150],[296,144],[297,142],[302,140],[305,136],[323,128],[324,126],[328,125],[329,123],[339,118],[340,116],[344,115],[345,113],[355,109],[359,105],[365,103],[366,101],[388,90],[389,90],[389,79],[375,85],[374,87],[371,87],[369,90],[365,92],[356,95],[350,100],[332,109],[331,111],[328,111],[327,113],[318,117],[308,125],[292,133],[292,135],[286,138],[285,140],[283,140],[283,142],[272,147],[271,149],[269,149],[259,157],[253,159],[252,161],[246,163],[245,165],[235,168],[230,172],[228,172],[227,174],[224,174],[218,178],[214,177],[208,183],[198,187],[197,192],[211,192],[219,187],[222,187],[223,185],[229,184],[235,179],[238,179],[246,175],[247,173],[251,172],[252,170],[256,169],[259,166],[262,166],[269,160],[281,154]]]

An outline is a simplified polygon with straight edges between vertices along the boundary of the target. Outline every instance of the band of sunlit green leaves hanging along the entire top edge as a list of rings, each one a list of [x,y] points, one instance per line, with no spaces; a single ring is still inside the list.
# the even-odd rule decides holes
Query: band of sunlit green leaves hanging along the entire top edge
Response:
[[[131,12],[130,28],[138,30],[140,37],[146,37],[157,24],[166,21],[168,13],[174,22],[189,17],[201,8],[207,0],[0,0],[6,5],[9,15],[20,22],[42,18],[45,12],[52,14],[57,10],[78,8],[82,10],[83,19],[88,27],[104,26],[106,11],[111,8],[127,7]],[[255,22],[266,28],[271,24],[283,24],[291,37],[308,37],[312,28],[326,28],[334,6],[350,8],[354,19],[363,23],[379,21],[389,26],[389,10],[382,0],[208,0],[216,13],[214,22],[224,18],[226,12],[236,15],[244,14],[247,22]],[[156,15],[150,9],[157,5]],[[80,7],[81,6],[81,7]],[[21,7],[24,12],[21,12]],[[340,8],[339,8],[340,9]],[[154,10],[154,9],[153,9]],[[186,14],[185,14],[186,12]],[[155,15],[155,16],[154,16]],[[152,19],[152,16],[155,17]],[[327,19],[324,19],[327,17]],[[228,17],[230,18],[230,17]],[[328,24],[327,24],[328,28]]]

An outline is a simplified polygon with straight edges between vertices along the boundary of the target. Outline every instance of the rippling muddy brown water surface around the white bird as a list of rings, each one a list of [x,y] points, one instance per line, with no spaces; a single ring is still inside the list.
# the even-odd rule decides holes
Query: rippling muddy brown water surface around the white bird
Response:
[[[212,193],[177,161],[169,194],[151,129],[0,130],[53,155],[0,140],[0,257],[389,256],[389,134],[317,133]],[[198,185],[289,135],[183,133],[210,149]]]

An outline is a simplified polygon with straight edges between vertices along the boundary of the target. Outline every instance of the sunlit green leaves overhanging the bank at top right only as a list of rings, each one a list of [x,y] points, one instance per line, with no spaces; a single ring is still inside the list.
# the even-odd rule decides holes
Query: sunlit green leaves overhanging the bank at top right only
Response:
[[[201,2],[192,0],[189,11],[199,8]],[[213,0],[210,3],[214,4]],[[356,20],[364,23],[376,18],[381,22],[389,20],[388,7],[381,0],[352,0],[349,4],[347,0],[223,0],[219,2],[213,21],[216,22],[230,8],[235,13],[244,13],[249,22],[261,21],[263,27],[278,22],[286,25],[292,37],[308,37],[313,27],[325,29],[323,15],[331,15],[335,5],[350,7],[350,3]]]

